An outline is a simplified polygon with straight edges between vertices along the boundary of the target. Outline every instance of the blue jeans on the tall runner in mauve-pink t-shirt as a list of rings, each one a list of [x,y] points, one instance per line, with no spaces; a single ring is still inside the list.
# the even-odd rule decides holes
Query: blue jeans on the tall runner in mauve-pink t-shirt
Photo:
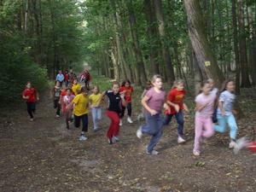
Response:
[[[160,114],[155,114],[152,116],[151,114],[146,113],[145,116],[146,124],[142,126],[142,132],[152,136],[147,148],[148,153],[151,153],[162,136],[163,120]]]

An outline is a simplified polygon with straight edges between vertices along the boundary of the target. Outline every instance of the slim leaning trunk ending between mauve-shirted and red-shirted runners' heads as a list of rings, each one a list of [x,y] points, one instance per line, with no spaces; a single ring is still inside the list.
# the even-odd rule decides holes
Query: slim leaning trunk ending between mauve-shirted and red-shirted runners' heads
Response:
[[[165,21],[164,21],[161,0],[154,0],[154,10],[155,10],[156,19],[159,24],[158,30],[160,34],[163,59],[166,65],[167,82],[171,84],[175,80],[175,75],[172,67],[172,59],[171,59],[170,51],[168,46],[166,46]]]

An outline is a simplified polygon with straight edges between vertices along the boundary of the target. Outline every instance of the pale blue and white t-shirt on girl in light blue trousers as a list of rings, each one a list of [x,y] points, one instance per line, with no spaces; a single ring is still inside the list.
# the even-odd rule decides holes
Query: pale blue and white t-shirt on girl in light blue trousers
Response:
[[[228,90],[224,90],[219,98],[218,102],[223,102],[223,108],[225,110],[225,115],[230,115],[232,114],[232,109],[233,109],[233,103],[235,102],[236,96],[235,94],[231,93]],[[220,109],[218,108],[218,114],[221,114]]]

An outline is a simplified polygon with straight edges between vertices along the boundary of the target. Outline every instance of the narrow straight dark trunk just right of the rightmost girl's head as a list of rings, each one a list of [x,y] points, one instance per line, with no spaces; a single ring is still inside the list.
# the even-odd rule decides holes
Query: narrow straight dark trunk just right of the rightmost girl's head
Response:
[[[241,87],[250,87],[250,79],[247,63],[247,39],[244,24],[243,1],[238,0],[238,25],[240,31],[239,46],[240,46],[240,62],[241,62]]]

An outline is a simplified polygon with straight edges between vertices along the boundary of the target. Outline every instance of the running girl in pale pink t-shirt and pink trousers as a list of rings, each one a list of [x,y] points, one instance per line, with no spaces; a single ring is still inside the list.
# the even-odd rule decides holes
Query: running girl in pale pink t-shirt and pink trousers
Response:
[[[193,154],[201,154],[200,143],[204,138],[214,134],[212,125],[213,105],[216,95],[211,93],[211,84],[207,81],[201,84],[201,93],[195,97],[195,144]]]

